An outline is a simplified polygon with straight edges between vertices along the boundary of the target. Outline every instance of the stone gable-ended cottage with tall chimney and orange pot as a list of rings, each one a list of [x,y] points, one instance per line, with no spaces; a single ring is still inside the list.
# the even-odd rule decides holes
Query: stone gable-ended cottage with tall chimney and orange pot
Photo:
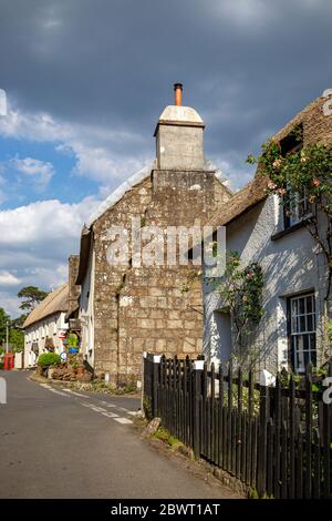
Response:
[[[226,180],[205,160],[204,127],[194,109],[181,106],[181,85],[176,84],[175,105],[164,110],[155,130],[153,165],[111,194],[82,232],[76,279],[82,349],[97,374],[107,371],[117,384],[141,378],[143,351],[201,353],[197,267],[166,260],[164,266],[137,267],[132,224],[138,219],[142,232],[203,225],[230,198]],[[110,262],[114,225],[127,231],[127,265]]]

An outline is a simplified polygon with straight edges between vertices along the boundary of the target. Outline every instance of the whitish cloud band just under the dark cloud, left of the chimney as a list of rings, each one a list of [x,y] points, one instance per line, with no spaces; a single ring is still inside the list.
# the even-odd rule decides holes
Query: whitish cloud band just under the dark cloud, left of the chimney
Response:
[[[118,151],[124,146],[126,150],[137,149],[138,145],[144,149],[145,141],[139,134],[70,124],[55,121],[46,113],[23,113],[10,108],[7,118],[0,119],[0,135],[55,143],[59,152],[75,157],[75,174],[106,185],[114,184],[114,180],[127,177],[148,161],[142,153],[134,152],[131,156]],[[45,168],[45,165],[43,166]]]

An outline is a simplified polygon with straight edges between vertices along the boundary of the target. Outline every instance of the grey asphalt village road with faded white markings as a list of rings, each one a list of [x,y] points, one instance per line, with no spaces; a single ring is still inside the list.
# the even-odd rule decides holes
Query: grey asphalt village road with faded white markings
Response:
[[[0,498],[236,498],[142,440],[139,400],[65,391],[0,371]]]

